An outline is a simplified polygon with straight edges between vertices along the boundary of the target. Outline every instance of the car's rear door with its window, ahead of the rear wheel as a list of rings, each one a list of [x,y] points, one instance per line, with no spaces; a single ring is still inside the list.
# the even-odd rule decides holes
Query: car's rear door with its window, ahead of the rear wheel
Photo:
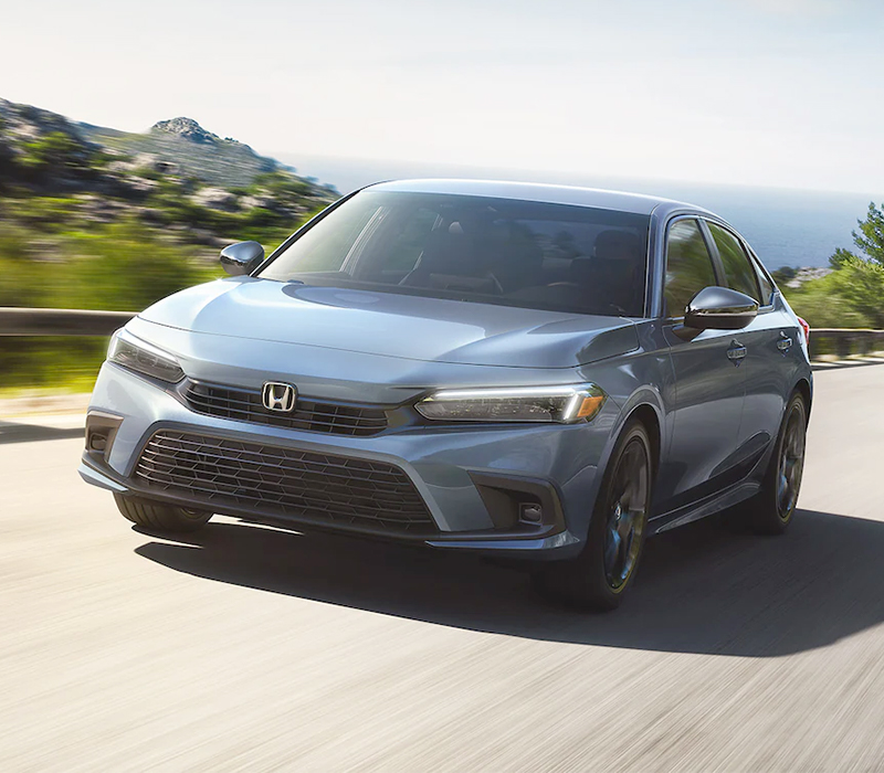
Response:
[[[739,340],[746,347],[741,368],[746,377],[746,400],[737,436],[737,460],[748,473],[777,436],[786,410],[788,378],[792,368],[786,362],[799,353],[800,335],[794,321],[775,304],[774,288],[756,267],[745,243],[722,224],[706,222],[724,272],[724,285],[758,301],[758,316],[743,330]]]

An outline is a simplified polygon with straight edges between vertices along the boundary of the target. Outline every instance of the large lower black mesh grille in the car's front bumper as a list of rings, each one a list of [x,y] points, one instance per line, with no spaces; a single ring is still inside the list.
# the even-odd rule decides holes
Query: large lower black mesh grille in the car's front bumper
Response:
[[[339,526],[435,531],[414,484],[386,462],[161,430],[141,452],[135,476],[219,510],[240,506]]]

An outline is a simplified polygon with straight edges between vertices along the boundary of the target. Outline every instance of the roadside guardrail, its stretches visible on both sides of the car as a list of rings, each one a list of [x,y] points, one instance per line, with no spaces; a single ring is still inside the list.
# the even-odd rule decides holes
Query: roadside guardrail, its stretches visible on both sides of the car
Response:
[[[134,316],[134,311],[0,307],[0,336],[109,336]],[[810,331],[810,356],[814,359],[874,351],[884,351],[884,330],[814,328]]]

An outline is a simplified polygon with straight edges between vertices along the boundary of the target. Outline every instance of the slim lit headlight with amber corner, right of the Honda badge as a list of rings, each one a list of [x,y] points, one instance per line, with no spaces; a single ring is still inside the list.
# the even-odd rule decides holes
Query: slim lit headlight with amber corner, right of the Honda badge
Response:
[[[443,390],[414,407],[427,419],[449,422],[591,421],[606,394],[596,384],[513,389]]]

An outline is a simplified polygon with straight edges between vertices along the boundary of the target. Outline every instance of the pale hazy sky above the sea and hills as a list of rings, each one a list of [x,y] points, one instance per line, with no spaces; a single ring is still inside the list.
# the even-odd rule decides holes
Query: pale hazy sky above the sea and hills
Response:
[[[150,0],[0,11],[0,96],[266,153],[884,189],[884,0]]]

